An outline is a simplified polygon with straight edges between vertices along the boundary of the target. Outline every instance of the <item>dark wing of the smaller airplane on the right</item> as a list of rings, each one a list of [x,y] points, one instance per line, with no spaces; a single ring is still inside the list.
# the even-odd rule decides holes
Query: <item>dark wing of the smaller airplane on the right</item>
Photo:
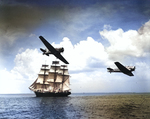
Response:
[[[124,67],[119,62],[115,62],[115,64],[118,67],[118,69],[120,69],[120,71],[123,72],[124,74],[127,74],[129,76],[134,76],[130,70],[128,70],[126,67]]]

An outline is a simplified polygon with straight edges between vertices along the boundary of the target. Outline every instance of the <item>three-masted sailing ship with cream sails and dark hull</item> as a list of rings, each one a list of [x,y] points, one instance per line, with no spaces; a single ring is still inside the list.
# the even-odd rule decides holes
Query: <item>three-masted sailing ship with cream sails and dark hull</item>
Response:
[[[53,61],[49,65],[42,65],[38,78],[29,87],[37,97],[65,97],[70,92],[70,75],[67,65],[59,65],[59,61]]]

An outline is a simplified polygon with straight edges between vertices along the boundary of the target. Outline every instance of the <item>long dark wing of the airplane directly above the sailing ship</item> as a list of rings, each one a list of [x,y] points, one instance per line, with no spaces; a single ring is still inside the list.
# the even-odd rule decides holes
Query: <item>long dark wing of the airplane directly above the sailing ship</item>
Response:
[[[58,59],[60,59],[61,61],[63,61],[66,64],[69,64],[66,59],[49,43],[45,40],[45,38],[43,38],[42,36],[39,36],[39,38],[41,39],[41,41],[44,43],[44,45],[47,47],[47,49],[49,51],[52,52],[53,55],[55,55]]]

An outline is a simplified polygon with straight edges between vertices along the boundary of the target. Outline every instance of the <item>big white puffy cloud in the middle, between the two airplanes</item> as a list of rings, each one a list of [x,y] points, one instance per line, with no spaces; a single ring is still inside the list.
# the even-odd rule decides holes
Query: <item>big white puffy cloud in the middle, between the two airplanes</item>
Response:
[[[72,45],[70,40],[65,37],[60,44],[65,49],[64,56],[70,63],[69,68],[71,71],[91,70],[95,68],[94,65],[99,68],[98,66],[101,66],[107,60],[104,46],[91,37],[75,45]]]

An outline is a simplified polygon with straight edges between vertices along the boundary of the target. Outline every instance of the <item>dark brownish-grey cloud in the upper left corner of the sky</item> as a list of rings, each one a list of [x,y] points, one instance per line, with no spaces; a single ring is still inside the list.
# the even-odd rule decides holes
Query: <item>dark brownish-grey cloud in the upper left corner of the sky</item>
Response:
[[[0,4],[0,52],[16,47],[14,44],[16,41],[24,42],[25,38],[39,27],[44,31],[45,23],[56,25],[59,19],[62,20],[64,7],[33,3],[13,1]]]

